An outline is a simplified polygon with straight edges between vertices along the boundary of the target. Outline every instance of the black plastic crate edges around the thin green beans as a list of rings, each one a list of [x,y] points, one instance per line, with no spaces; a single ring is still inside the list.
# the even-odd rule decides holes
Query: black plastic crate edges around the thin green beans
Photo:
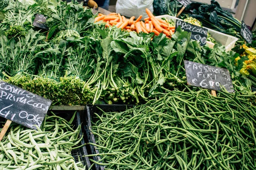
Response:
[[[90,133],[91,128],[91,121],[96,121],[98,118],[94,113],[97,113],[99,115],[102,114],[102,111],[98,108],[100,108],[102,111],[105,112],[120,112],[125,111],[127,108],[133,108],[134,105],[87,105],[86,106],[86,112],[82,115],[81,120],[83,122],[86,122],[83,128],[84,133],[84,140],[86,142],[95,143],[95,138],[92,133]],[[86,135],[85,135],[86,134]],[[87,145],[87,151],[89,154],[98,154],[99,150],[96,149],[94,145]],[[93,156],[92,158],[94,161],[99,161],[101,158],[100,156]],[[92,164],[92,162],[91,162]],[[99,164],[94,164],[93,170],[104,170],[104,166]]]

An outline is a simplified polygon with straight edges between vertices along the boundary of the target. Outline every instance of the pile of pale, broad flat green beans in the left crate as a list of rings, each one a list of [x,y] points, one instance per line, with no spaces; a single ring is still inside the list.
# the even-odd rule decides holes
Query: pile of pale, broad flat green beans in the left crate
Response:
[[[71,125],[74,117],[68,122],[52,113],[38,130],[13,123],[0,142],[0,170],[84,170],[71,155],[82,139],[81,125]]]

